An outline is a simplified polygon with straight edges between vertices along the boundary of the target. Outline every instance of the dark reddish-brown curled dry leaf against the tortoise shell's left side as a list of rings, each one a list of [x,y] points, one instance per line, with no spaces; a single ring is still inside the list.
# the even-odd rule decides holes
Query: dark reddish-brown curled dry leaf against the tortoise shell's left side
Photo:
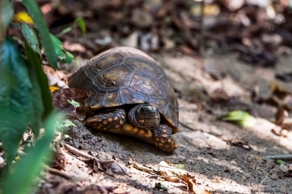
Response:
[[[72,106],[67,100],[74,100],[79,102],[80,106],[77,107],[75,118],[78,120],[84,120],[85,118],[85,101],[88,95],[85,90],[79,90],[76,88],[63,88],[52,92],[53,106],[57,111],[58,116],[73,116],[74,106]]]

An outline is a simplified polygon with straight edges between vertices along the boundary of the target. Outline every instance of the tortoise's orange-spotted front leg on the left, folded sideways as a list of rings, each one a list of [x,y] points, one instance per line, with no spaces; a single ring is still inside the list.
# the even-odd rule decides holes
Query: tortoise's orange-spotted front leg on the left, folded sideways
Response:
[[[101,113],[90,117],[86,124],[93,129],[108,131],[110,129],[119,129],[126,122],[126,112],[122,108],[112,109],[107,113]]]

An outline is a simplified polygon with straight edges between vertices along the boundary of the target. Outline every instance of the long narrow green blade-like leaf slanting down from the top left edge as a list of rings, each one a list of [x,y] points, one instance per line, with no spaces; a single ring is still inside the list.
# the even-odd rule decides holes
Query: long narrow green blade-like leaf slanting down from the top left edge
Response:
[[[39,6],[35,0],[23,0],[22,3],[27,8],[30,17],[34,20],[36,29],[39,31],[50,65],[53,69],[57,69],[57,56],[55,55],[53,42],[50,38],[48,27]]]

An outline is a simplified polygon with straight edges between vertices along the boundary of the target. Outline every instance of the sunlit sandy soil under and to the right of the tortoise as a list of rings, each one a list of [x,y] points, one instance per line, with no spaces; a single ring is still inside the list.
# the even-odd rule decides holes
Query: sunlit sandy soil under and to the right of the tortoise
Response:
[[[165,153],[134,138],[90,131],[84,122],[77,122],[76,145],[94,148],[100,159],[114,159],[126,166],[128,176],[95,173],[83,158],[67,152],[65,172],[73,179],[46,173],[37,193],[106,193],[96,186],[117,187],[112,193],[192,193],[182,181],[166,181],[128,165],[129,160],[134,160],[158,168],[165,159],[173,164],[183,163],[184,169],[195,176],[198,186],[211,193],[251,193],[251,190],[292,193],[291,177],[279,170],[274,160],[265,159],[267,155],[292,153],[292,131],[285,136],[274,134],[272,129],[279,129],[271,122],[277,107],[252,100],[255,88],[267,90],[274,75],[291,64],[291,57],[282,57],[276,68],[269,69],[242,63],[236,54],[210,54],[205,58],[172,52],[150,55],[164,68],[178,95],[179,120],[183,124],[179,125],[181,132],[174,135],[178,149]],[[211,76],[214,74],[219,79]],[[212,95],[213,99],[221,95],[228,100],[216,102]],[[238,127],[217,120],[233,110],[248,111],[257,118],[256,125]],[[240,140],[245,146],[230,143]],[[97,156],[96,152],[90,152]],[[269,174],[273,168],[277,169]],[[158,182],[168,190],[154,188]]]

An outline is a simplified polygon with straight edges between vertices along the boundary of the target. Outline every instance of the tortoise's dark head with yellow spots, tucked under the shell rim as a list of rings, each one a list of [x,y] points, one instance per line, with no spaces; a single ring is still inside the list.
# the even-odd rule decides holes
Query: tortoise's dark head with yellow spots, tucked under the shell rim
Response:
[[[149,104],[139,104],[129,111],[128,118],[137,127],[153,129],[160,122],[159,109]]]

